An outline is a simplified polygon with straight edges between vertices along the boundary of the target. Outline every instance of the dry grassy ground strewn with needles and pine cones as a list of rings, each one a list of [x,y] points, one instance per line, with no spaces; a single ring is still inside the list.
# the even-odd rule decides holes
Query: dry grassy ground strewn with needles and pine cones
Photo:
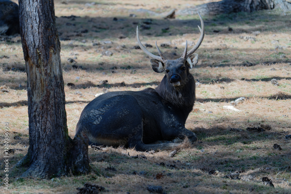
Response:
[[[192,1],[85,3],[55,1],[71,137],[81,111],[95,94],[105,88],[138,91],[156,87],[164,76],[152,71],[140,49],[132,49],[137,45],[137,25],[152,19],[150,29],[140,29],[141,41],[153,46],[156,40],[158,45],[167,43],[160,49],[169,59],[180,57],[182,43],[196,43],[200,35],[198,15],[165,20],[134,11],[143,8],[162,13],[189,7]],[[130,13],[137,17],[128,17]],[[70,15],[78,17],[61,17]],[[90,174],[41,180],[19,178],[25,169],[10,170],[9,193],[77,193],[76,188],[85,183],[105,187],[102,193],[149,193],[148,185],[162,186],[166,193],[291,193],[291,147],[286,138],[291,134],[290,15],[272,10],[203,19],[206,35],[197,51],[199,63],[190,71],[201,84],[186,122],[198,142],[184,142],[173,157],[166,151],[89,148]],[[255,35],[255,31],[260,33]],[[26,73],[17,40],[19,36],[0,42],[0,56],[9,57],[0,59],[0,135],[4,149],[4,122],[9,122],[10,147],[16,149],[10,153],[10,167],[29,146]],[[157,54],[154,47],[149,50]],[[113,55],[105,56],[105,51]],[[246,98],[235,106],[239,112],[223,108],[239,97]],[[274,149],[274,144],[281,150]],[[3,152],[0,155],[4,169]],[[3,170],[0,175],[4,177]],[[263,182],[263,177],[274,187]],[[0,192],[8,193],[3,180],[0,184]]]

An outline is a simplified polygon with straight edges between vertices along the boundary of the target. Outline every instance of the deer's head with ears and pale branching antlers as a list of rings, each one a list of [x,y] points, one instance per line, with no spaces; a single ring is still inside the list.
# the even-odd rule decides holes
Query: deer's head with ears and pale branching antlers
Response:
[[[150,53],[142,44],[141,41],[139,40],[139,28],[138,26],[136,27],[136,38],[137,42],[139,43],[139,46],[143,50],[143,52],[151,57],[150,63],[152,65],[152,69],[157,72],[157,73],[166,73],[166,77],[168,82],[176,87],[181,87],[185,85],[185,80],[187,79],[187,75],[189,73],[189,69],[195,67],[195,65],[198,63],[198,54],[194,54],[194,52],[199,48],[201,45],[203,38],[204,38],[204,22],[201,17],[201,15],[198,13],[201,21],[201,27],[202,29],[198,26],[200,30],[200,38],[196,45],[187,52],[187,40],[186,40],[186,46],[184,49],[184,52],[182,56],[176,60],[168,60],[162,51],[160,51],[157,41],[156,41],[156,47],[158,50],[158,53],[160,56],[156,56],[152,53]],[[177,88],[178,89],[178,88]]]

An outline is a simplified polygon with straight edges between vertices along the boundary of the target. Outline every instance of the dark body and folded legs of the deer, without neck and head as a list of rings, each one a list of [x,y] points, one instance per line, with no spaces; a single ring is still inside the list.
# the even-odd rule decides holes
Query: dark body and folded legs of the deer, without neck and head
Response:
[[[195,141],[196,135],[185,128],[190,111],[181,111],[164,101],[152,88],[108,92],[84,108],[76,135],[87,138],[93,145],[123,145],[139,151],[173,149],[179,144],[149,144],[183,139],[185,135]]]

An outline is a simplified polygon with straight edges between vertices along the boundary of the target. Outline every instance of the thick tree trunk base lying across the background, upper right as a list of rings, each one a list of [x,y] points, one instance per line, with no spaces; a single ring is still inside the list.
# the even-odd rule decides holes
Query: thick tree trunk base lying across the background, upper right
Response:
[[[223,0],[178,10],[176,15],[192,15],[197,12],[201,15],[217,15],[274,8],[281,8],[283,12],[288,12],[291,11],[291,3],[285,0]]]

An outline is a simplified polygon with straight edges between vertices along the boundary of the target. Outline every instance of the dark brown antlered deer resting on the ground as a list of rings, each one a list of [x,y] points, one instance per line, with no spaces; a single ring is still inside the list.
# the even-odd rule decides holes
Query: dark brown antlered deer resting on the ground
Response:
[[[199,14],[199,13],[198,13]],[[175,138],[191,142],[195,133],[185,128],[185,122],[195,101],[195,81],[189,69],[198,63],[193,54],[204,38],[204,23],[197,44],[187,52],[187,41],[181,58],[168,60],[157,46],[160,56],[150,53],[136,38],[145,54],[151,57],[152,69],[165,76],[157,88],[142,91],[108,92],[96,97],[82,111],[76,127],[76,136],[89,140],[89,144],[125,146],[139,151],[167,150],[178,146]],[[166,142],[158,143],[156,142]]]

